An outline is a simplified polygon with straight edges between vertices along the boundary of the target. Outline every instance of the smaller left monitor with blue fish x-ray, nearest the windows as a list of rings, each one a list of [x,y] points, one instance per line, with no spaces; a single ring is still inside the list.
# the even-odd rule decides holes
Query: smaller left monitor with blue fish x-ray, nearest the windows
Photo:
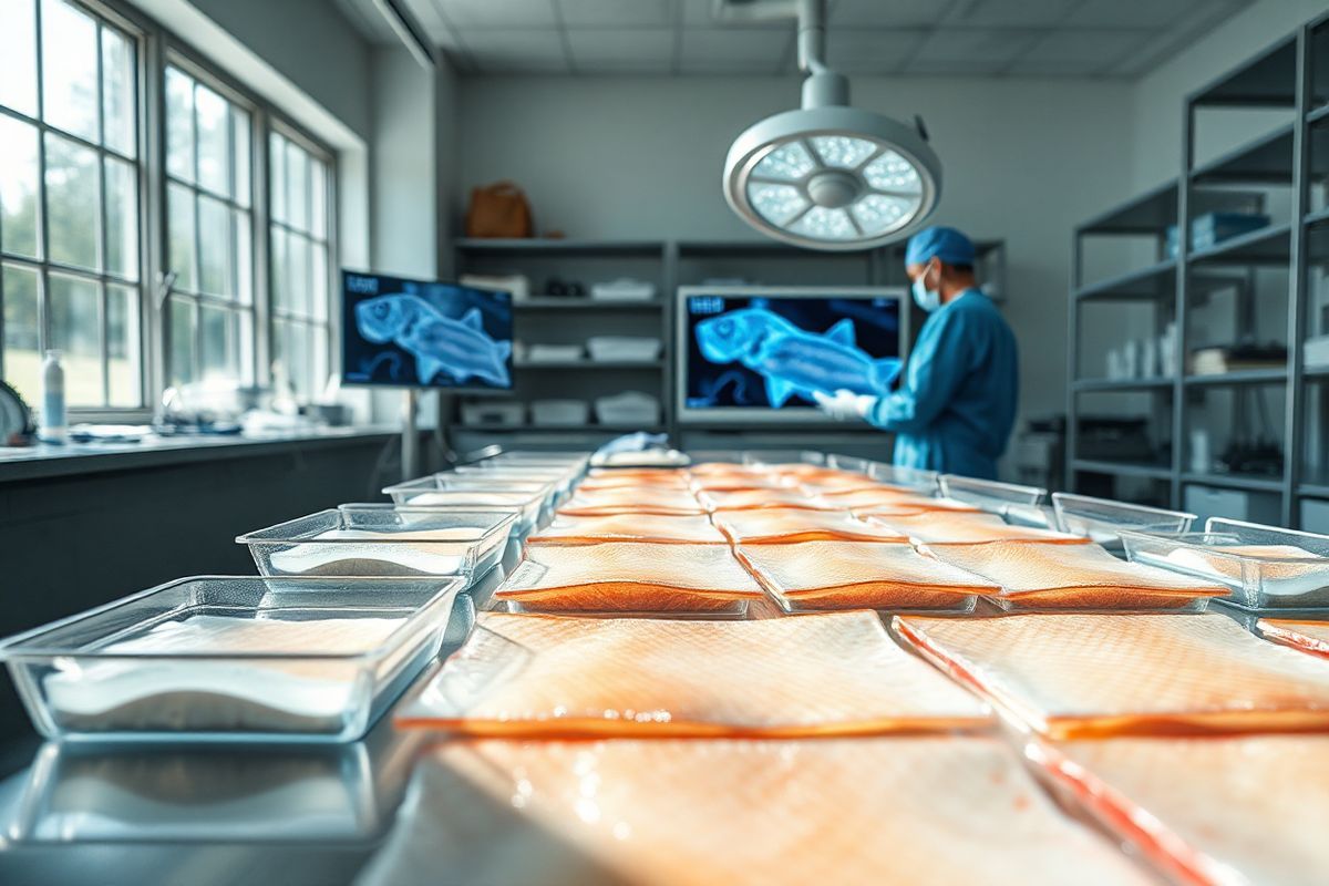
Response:
[[[512,388],[512,294],[342,272],[342,380]]]

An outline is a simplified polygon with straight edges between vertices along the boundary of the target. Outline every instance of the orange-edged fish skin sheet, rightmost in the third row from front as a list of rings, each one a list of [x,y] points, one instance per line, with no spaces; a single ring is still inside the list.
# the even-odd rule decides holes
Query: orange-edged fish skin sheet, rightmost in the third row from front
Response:
[[[1168,608],[1188,599],[1228,594],[1221,584],[1127,563],[1098,545],[1007,541],[924,550],[1001,584],[1001,599],[1029,608]]]

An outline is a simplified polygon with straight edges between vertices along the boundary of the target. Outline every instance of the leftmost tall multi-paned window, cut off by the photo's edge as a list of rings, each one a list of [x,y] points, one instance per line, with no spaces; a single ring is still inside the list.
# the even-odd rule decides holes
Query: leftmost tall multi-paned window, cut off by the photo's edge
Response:
[[[138,45],[66,0],[0,0],[0,377],[141,406]]]

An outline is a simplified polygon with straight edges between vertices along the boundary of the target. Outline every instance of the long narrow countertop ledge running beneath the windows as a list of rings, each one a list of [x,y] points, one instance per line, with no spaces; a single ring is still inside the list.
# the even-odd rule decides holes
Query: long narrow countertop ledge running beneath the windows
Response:
[[[400,433],[391,425],[371,425],[235,437],[152,436],[138,444],[0,446],[0,484],[245,458],[311,446],[344,446]]]

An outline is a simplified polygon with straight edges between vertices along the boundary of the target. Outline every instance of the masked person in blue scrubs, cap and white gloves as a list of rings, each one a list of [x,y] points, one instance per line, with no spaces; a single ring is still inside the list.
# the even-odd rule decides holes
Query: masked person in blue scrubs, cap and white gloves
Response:
[[[1015,424],[1015,336],[974,279],[974,244],[950,227],[916,234],[905,250],[913,299],[928,321],[894,389],[839,391],[817,402],[841,420],[865,418],[896,433],[894,464],[997,478]]]

